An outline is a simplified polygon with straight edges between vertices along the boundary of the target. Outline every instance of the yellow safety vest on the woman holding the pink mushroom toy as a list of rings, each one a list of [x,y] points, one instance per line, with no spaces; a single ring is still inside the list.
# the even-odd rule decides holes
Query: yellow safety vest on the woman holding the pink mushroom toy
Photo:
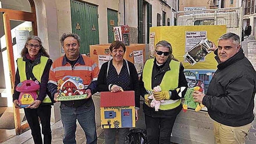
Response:
[[[35,65],[33,67],[32,73],[34,74],[35,78],[41,83],[41,77],[44,72],[47,60],[46,56],[41,56],[40,58],[40,63]],[[18,58],[17,60],[17,65],[19,69],[19,77],[20,77],[20,82],[27,80],[26,76],[26,62],[23,61],[23,58]],[[31,78],[30,78],[31,79]],[[39,94],[39,91],[38,91]],[[45,99],[42,101],[44,103],[51,103],[51,99],[49,98],[48,95],[46,95]]]

